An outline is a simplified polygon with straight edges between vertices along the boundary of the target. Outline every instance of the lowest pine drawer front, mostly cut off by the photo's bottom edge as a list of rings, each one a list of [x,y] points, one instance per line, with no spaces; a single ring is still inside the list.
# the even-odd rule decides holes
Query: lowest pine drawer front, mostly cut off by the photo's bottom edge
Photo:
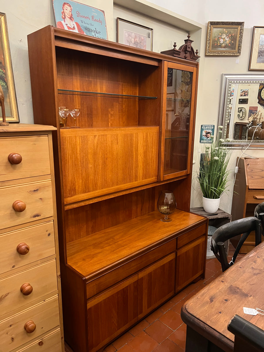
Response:
[[[61,352],[61,350],[61,331],[59,329],[17,352]]]

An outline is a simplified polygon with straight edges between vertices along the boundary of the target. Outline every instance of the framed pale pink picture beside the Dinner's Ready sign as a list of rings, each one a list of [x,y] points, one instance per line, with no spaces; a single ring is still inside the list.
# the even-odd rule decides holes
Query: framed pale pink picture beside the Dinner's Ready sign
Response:
[[[117,17],[117,42],[138,49],[153,48],[153,29]]]

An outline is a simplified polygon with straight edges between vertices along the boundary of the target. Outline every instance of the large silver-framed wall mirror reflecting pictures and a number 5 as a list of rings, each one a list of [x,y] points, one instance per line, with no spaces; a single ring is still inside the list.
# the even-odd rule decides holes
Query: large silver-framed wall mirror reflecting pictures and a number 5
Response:
[[[264,147],[264,75],[222,74],[218,125],[227,144]]]

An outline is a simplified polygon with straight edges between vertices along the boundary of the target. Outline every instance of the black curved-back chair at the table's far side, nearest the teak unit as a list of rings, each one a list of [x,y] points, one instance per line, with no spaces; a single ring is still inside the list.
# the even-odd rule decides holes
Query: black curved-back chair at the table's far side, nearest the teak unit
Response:
[[[241,246],[251,231],[255,231],[255,245],[257,246],[261,242],[261,220],[254,216],[234,220],[228,224],[222,225],[214,232],[212,235],[211,250],[221,263],[222,272],[234,264]],[[241,235],[241,233],[243,233],[243,235],[239,240],[231,262],[228,263],[224,242],[230,238]]]

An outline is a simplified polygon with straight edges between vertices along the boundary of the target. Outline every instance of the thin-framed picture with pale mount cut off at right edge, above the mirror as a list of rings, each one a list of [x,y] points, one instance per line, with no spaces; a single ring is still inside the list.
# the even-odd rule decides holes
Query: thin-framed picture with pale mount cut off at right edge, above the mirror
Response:
[[[253,38],[249,62],[249,71],[264,70],[264,27],[253,28]]]

